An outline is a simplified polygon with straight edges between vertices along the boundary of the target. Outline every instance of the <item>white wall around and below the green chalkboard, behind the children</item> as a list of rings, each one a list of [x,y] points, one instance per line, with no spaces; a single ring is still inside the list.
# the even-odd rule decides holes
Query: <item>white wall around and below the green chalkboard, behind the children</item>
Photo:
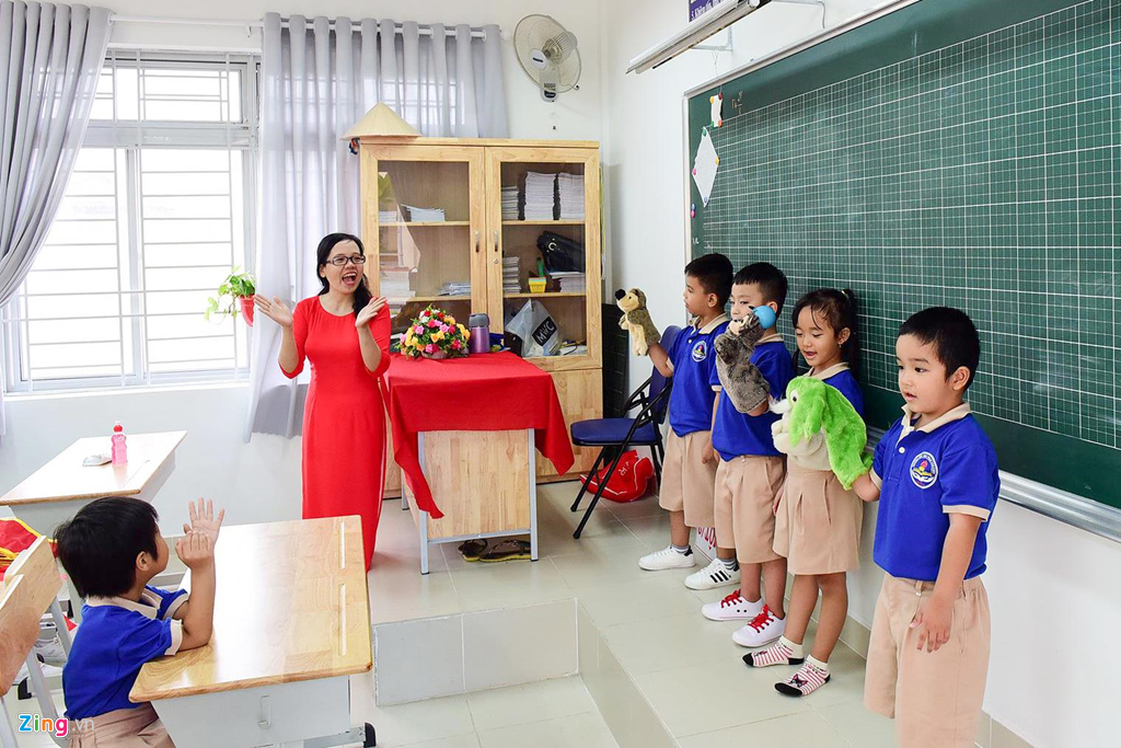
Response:
[[[828,22],[878,4],[826,0]],[[624,75],[627,62],[685,22],[680,0],[601,6],[603,164],[609,287],[640,286],[659,324],[679,324],[688,205],[682,93],[821,28],[810,8],[770,6],[732,28],[734,53],[691,52],[655,71]],[[722,39],[723,35],[717,37]],[[631,381],[648,371],[631,360]],[[871,560],[876,510],[865,515],[862,567],[850,579],[850,612],[871,625],[882,572]],[[985,584],[992,658],[985,710],[1040,747],[1115,745],[1112,713],[1121,669],[1121,545],[1002,501],[989,533]]]

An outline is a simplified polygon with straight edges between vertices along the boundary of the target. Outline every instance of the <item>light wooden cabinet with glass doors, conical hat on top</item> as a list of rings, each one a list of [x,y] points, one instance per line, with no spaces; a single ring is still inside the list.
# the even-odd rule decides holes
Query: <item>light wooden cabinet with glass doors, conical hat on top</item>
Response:
[[[363,138],[360,153],[365,274],[389,299],[393,333],[428,304],[464,324],[484,312],[501,332],[536,301],[565,344],[527,360],[552,372],[569,423],[602,416],[599,144]],[[575,265],[546,267],[543,237]],[[546,289],[534,293],[531,277]],[[569,475],[593,459],[577,451]],[[537,464],[539,478],[557,479]],[[386,492],[400,492],[392,464]]]

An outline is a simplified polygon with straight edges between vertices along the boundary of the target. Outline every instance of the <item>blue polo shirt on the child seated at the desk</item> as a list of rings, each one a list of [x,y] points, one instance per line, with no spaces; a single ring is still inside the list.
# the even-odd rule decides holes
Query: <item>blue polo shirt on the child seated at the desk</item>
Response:
[[[140,602],[86,600],[63,667],[66,717],[82,720],[139,707],[129,701],[129,691],[145,663],[179,650],[183,624],[172,616],[186,600],[186,590],[165,592],[154,587],[145,588]]]

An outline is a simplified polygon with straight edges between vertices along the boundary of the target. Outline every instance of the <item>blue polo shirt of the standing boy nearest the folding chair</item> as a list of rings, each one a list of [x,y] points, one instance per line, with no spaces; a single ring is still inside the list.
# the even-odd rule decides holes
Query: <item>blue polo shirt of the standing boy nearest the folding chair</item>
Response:
[[[716,376],[716,351],[713,341],[728,327],[728,315],[704,327],[689,325],[666,351],[674,367],[674,389],[669,393],[669,427],[678,436],[698,431],[712,431],[712,405],[716,401],[713,378]],[[719,381],[719,379],[717,379]]]

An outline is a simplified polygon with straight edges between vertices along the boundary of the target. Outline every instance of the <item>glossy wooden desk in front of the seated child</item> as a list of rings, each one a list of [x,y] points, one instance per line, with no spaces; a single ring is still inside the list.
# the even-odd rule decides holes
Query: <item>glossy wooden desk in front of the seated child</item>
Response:
[[[363,742],[349,678],[373,666],[360,518],[225,527],[215,564],[210,644],[146,664],[129,698],[178,746]]]

